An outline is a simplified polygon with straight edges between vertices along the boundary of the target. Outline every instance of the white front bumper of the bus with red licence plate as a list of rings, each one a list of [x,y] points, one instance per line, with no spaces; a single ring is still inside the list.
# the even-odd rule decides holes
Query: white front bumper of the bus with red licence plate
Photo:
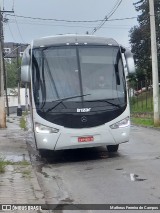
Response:
[[[129,141],[130,127],[109,129],[64,129],[59,133],[35,133],[37,148],[49,150],[77,149],[116,145]]]

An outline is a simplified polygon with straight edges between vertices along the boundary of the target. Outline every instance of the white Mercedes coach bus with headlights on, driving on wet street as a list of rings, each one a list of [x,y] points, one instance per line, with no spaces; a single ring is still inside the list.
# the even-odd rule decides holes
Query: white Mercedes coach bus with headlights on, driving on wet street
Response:
[[[37,149],[107,146],[129,141],[126,71],[132,53],[115,40],[60,35],[34,40],[25,50],[21,80],[29,83]]]

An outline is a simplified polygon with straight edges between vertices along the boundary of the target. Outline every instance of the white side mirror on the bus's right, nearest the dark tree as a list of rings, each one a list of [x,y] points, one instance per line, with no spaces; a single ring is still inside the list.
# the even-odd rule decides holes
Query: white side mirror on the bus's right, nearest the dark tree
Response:
[[[127,66],[128,73],[129,74],[135,73],[135,63],[134,63],[133,54],[131,53],[129,49],[126,49],[126,51],[124,52],[124,56],[126,59],[126,66]]]

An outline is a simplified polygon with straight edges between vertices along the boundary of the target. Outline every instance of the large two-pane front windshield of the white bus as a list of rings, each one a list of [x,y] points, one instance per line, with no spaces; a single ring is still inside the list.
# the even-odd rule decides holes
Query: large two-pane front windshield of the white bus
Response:
[[[36,105],[65,102],[126,101],[119,47],[59,46],[33,49],[32,82]],[[85,95],[89,94],[89,95]],[[68,97],[75,98],[68,98]]]

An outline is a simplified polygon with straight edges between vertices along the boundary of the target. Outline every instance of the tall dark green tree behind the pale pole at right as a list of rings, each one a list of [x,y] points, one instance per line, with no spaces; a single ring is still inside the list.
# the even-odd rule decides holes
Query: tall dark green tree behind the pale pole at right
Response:
[[[155,1],[155,15],[156,15],[158,63],[160,67],[160,26],[159,26],[160,0],[154,1]],[[136,10],[140,12],[140,15],[138,16],[139,25],[134,26],[130,30],[131,49],[135,57],[135,63],[138,72],[144,74],[143,80],[151,80],[152,69],[151,69],[149,2],[148,0],[140,0],[134,5]]]

